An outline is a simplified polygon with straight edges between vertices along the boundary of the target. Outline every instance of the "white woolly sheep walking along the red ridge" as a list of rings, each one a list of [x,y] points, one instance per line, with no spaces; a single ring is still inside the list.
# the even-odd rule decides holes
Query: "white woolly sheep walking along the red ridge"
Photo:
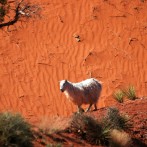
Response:
[[[64,92],[66,97],[77,105],[78,112],[84,111],[81,108],[82,104],[89,104],[85,112],[88,112],[94,104],[97,110],[96,103],[102,91],[101,82],[94,78],[84,80],[79,83],[72,83],[67,80],[60,81],[60,90]]]

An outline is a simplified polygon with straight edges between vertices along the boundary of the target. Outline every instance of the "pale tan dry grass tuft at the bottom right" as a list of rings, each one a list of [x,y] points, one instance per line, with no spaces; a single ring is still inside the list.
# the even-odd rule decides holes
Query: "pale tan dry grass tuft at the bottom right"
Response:
[[[130,147],[132,144],[131,137],[124,131],[114,129],[110,132],[110,138],[111,147]]]

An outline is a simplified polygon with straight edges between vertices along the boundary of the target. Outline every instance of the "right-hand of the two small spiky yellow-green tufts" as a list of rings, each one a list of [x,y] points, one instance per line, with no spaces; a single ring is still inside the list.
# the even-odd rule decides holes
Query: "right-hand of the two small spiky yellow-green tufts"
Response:
[[[134,86],[129,86],[127,89],[124,89],[123,93],[130,100],[135,100],[137,98]]]

